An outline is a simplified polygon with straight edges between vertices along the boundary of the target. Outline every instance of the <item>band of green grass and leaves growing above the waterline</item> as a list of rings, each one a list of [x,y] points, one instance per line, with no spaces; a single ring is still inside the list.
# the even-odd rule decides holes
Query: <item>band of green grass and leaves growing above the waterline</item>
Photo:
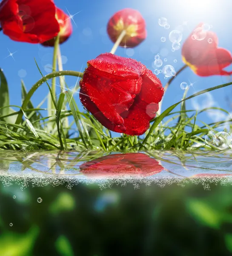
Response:
[[[43,76],[42,73],[41,75]],[[207,108],[197,113],[195,110],[186,110],[185,106],[185,101],[188,99],[232,84],[227,83],[202,90],[189,97],[186,97],[187,90],[185,90],[180,102],[170,106],[151,121],[145,137],[126,136],[125,134],[112,137],[111,132],[103,127],[91,113],[86,110],[79,111],[73,98],[73,93],[78,90],[78,87],[75,88],[75,91],[67,89],[61,92],[59,97],[53,95],[47,81],[57,76],[67,75],[83,76],[82,73],[75,71],[53,72],[43,76],[29,92],[26,91],[22,81],[23,103],[22,106],[15,106],[9,103],[8,84],[3,71],[0,71],[0,149],[24,149],[26,151],[70,150],[73,148],[77,151],[217,150],[215,145],[206,144],[204,137],[209,131],[215,131],[216,128],[232,121],[214,122],[209,125],[203,123],[200,126],[197,125],[200,121],[198,116],[204,111],[217,109],[229,113],[221,108]],[[31,102],[32,95],[45,82],[49,87],[49,97],[55,108],[54,114],[49,109],[41,108],[46,98],[36,107]],[[68,88],[67,85],[66,88]],[[180,105],[180,110],[176,111],[175,108],[178,105]],[[67,110],[67,106],[70,110]],[[69,120],[72,120],[70,124],[66,122],[68,117]],[[171,125],[171,122],[175,122],[175,125]],[[73,124],[76,129],[72,128]]]

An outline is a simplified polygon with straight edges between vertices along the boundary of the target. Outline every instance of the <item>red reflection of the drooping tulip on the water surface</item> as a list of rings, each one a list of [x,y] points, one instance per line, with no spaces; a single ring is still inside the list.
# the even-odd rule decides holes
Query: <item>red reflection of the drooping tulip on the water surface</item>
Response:
[[[143,153],[112,154],[80,165],[80,172],[94,177],[146,177],[158,174],[163,166]]]

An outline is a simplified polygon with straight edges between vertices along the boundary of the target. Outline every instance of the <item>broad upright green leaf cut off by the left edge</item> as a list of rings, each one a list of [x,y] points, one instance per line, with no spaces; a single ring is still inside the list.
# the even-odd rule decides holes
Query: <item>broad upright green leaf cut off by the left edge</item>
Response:
[[[0,108],[9,106],[9,90],[3,71],[0,69]],[[0,116],[9,114],[9,108],[0,109]]]

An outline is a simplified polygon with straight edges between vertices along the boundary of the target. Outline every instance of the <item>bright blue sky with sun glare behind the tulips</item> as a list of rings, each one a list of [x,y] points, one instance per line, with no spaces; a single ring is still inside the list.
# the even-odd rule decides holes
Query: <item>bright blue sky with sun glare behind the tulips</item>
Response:
[[[187,26],[182,26],[183,39],[180,42],[181,46],[195,26],[200,22],[204,22],[212,25],[211,30],[216,32],[219,38],[219,47],[226,48],[232,52],[232,34],[230,29],[228,29],[232,25],[232,1],[229,0],[89,0],[88,4],[85,1],[74,0],[55,0],[54,2],[59,8],[65,12],[67,12],[67,9],[72,15],[79,12],[74,16],[74,22],[76,24],[72,22],[72,36],[67,42],[61,45],[61,53],[65,56],[63,60],[66,62],[63,65],[64,70],[83,71],[89,59],[97,57],[100,53],[109,52],[113,43],[106,34],[107,22],[115,12],[128,7],[139,10],[143,15],[146,20],[148,35],[143,43],[133,49],[134,52],[131,49],[125,51],[124,48],[119,48],[116,54],[135,58],[152,71],[154,71],[152,63],[157,53],[160,53],[162,60],[167,58],[166,62],[163,61],[163,66],[170,64],[175,68],[175,71],[183,66],[181,50],[172,52],[172,43],[169,41],[168,36],[173,29],[183,25],[186,21]],[[158,19],[160,17],[167,18],[170,24],[169,29],[159,26]],[[40,79],[34,58],[36,58],[43,74],[46,75],[46,67],[52,63],[53,48],[46,48],[38,44],[11,41],[3,33],[0,36],[0,67],[3,68],[8,80],[10,103],[11,105],[21,105],[20,79],[23,79],[25,82],[27,90]],[[166,37],[166,41],[161,42],[161,37]],[[15,61],[11,56],[7,57],[9,55],[8,49],[10,52],[15,52],[13,55]],[[176,63],[174,63],[174,59],[177,60]],[[226,70],[232,70],[232,65],[227,67]],[[163,74],[159,74],[158,77],[164,85],[166,80]],[[69,87],[73,87],[77,79],[67,77],[66,81]],[[230,81],[230,78],[223,76],[202,78],[187,68],[174,79],[172,85],[169,87],[163,100],[163,110],[181,99],[183,90],[180,88],[180,83],[183,81],[194,83],[193,87],[189,88],[188,96],[190,96],[199,90]],[[58,82],[57,79],[57,84]],[[59,87],[57,87],[57,90],[59,90]],[[42,101],[46,93],[48,93],[48,88],[46,84],[43,84],[32,97],[34,106]],[[230,106],[232,102],[226,100],[226,97],[230,99],[231,95],[232,87],[226,87],[213,91],[208,96],[195,98],[195,102],[188,101],[186,105],[187,108],[194,109],[196,104],[202,107],[210,103],[212,106],[218,106],[232,111],[232,107]],[[75,94],[74,98],[81,108],[78,94]],[[46,105],[43,106],[46,107]],[[217,118],[222,119],[223,116],[215,116],[213,114],[211,116],[207,114],[198,116],[198,119],[204,122],[217,121]]]

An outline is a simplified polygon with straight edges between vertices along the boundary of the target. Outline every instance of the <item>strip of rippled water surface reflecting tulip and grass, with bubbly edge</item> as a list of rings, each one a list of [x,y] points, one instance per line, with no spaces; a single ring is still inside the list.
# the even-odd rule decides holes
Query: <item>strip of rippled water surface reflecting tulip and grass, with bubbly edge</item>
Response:
[[[105,188],[129,182],[138,188],[139,183],[165,186],[199,179],[231,182],[231,164],[230,151],[0,151],[0,181],[6,186],[17,182],[21,189],[64,183],[68,188],[77,183],[98,183]]]

